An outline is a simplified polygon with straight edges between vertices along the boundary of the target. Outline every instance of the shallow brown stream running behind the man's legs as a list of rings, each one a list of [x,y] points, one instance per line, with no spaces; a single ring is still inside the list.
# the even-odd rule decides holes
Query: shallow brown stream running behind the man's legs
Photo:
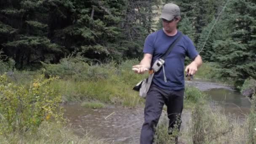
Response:
[[[222,107],[227,115],[245,117],[250,110],[250,101],[233,88],[209,81],[186,81],[186,86],[194,86],[211,96],[212,107]],[[108,106],[103,109],[90,109],[80,104],[64,105],[64,117],[79,136],[92,134],[101,141],[115,144],[139,144],[141,126],[144,122],[144,108],[124,108]],[[165,112],[162,113],[162,116]],[[181,131],[186,128],[191,112],[182,112]]]

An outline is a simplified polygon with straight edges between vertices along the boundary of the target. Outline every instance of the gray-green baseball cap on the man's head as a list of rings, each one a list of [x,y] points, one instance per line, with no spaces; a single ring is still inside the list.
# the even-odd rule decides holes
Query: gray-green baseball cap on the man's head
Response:
[[[181,12],[178,5],[167,3],[163,6],[160,18],[171,21],[175,16],[180,16]]]

